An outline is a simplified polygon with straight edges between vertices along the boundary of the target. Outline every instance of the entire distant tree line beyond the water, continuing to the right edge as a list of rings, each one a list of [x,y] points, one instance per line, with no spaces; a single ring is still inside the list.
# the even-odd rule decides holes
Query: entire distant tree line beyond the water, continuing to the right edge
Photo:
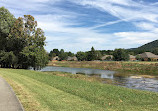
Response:
[[[92,47],[90,51],[86,51],[86,52],[79,51],[76,54],[72,52],[64,52],[63,49],[61,49],[60,51],[58,49],[53,49],[49,54],[49,59],[51,60],[52,57],[58,56],[60,60],[67,60],[68,56],[70,57],[76,56],[78,61],[94,61],[94,60],[103,60],[102,57],[107,55],[107,57],[104,58],[104,60],[128,61],[130,59],[129,55],[133,55],[136,57],[136,60],[142,61],[143,59],[139,57],[138,54],[141,54],[144,52],[152,52],[153,54],[158,55],[158,48],[155,47],[154,49],[148,51],[148,50],[142,50],[139,48],[95,50],[94,47]]]

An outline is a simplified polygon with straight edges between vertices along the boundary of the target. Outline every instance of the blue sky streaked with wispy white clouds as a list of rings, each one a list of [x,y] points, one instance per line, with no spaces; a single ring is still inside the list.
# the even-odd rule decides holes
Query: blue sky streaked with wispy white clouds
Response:
[[[158,0],[0,0],[15,15],[33,15],[47,51],[135,48],[158,39]]]

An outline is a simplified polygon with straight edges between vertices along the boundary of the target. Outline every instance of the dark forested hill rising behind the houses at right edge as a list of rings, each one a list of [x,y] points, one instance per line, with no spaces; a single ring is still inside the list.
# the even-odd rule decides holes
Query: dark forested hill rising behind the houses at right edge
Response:
[[[158,48],[158,40],[149,42],[145,45],[142,45],[141,47],[138,47],[138,50],[145,50],[145,51],[152,51],[154,49]]]

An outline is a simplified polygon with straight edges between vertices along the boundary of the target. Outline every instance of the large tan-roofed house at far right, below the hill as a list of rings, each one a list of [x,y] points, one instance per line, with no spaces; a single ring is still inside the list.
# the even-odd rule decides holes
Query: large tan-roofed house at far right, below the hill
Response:
[[[139,57],[143,59],[144,61],[157,61],[158,55],[155,55],[151,52],[144,52],[142,54],[139,54]]]

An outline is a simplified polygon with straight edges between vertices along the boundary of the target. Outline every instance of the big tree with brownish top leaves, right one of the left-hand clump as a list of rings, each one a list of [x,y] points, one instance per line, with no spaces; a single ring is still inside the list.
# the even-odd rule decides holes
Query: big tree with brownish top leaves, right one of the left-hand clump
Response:
[[[48,58],[44,50],[45,39],[43,30],[37,28],[37,21],[33,16],[24,15],[24,18],[19,17],[15,21],[8,43],[12,42],[9,49],[18,57],[19,68],[31,66],[38,69],[46,65]]]

